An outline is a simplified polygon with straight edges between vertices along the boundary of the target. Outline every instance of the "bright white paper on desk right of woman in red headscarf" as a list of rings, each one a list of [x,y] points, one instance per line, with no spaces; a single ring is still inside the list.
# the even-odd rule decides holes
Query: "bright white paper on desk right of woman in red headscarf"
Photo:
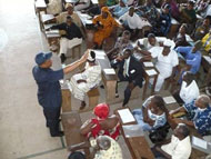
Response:
[[[118,110],[120,118],[123,123],[129,123],[135,121],[134,117],[132,116],[129,109]]]

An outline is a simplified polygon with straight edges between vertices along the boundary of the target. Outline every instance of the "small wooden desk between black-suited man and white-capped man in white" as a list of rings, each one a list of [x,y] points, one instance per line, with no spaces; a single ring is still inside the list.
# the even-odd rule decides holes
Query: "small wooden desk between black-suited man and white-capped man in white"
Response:
[[[157,71],[157,74],[149,76],[149,74],[147,73],[147,71],[150,70],[150,69],[155,70],[155,71]],[[147,67],[144,67],[143,70],[144,70],[144,71],[143,71],[143,78],[144,78],[144,80],[145,80],[145,83],[144,83],[144,86],[143,86],[142,100],[145,99],[145,93],[147,93],[147,90],[148,90],[148,87],[149,87],[149,81],[150,81],[151,78],[154,79],[153,85],[152,85],[152,89],[151,89],[151,95],[154,93],[154,88],[155,88],[157,79],[158,79],[158,76],[159,76],[159,71],[155,69],[155,67],[152,67],[152,68],[147,68]]]

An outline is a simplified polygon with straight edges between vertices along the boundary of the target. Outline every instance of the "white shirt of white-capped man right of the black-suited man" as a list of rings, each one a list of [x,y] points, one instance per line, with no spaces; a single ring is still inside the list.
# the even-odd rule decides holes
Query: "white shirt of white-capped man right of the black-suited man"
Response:
[[[173,67],[179,64],[178,53],[171,50],[168,56],[163,56],[163,47],[153,47],[149,50],[152,58],[158,58],[155,63],[157,69],[163,77],[169,77],[172,73]]]

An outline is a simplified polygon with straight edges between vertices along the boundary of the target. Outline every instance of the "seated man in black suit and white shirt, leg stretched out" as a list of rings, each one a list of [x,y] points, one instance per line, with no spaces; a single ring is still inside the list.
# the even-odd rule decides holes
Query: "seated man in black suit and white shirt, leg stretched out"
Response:
[[[122,103],[123,107],[129,102],[132,90],[137,86],[141,88],[143,81],[142,64],[132,56],[132,52],[133,50],[131,48],[125,48],[123,50],[123,56],[115,58],[115,62],[113,62],[114,66],[119,67],[118,71],[119,80],[128,81],[128,86],[124,90],[124,100]],[[118,95],[118,88],[117,88],[117,95]]]

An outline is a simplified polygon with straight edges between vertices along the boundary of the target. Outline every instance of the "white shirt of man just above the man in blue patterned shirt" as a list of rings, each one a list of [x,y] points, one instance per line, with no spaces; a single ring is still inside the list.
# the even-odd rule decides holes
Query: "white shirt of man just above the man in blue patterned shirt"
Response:
[[[187,86],[187,82],[182,81],[182,87],[180,89],[180,98],[184,101],[184,103],[190,103],[198,97],[199,87],[197,82],[193,80],[189,86]]]

